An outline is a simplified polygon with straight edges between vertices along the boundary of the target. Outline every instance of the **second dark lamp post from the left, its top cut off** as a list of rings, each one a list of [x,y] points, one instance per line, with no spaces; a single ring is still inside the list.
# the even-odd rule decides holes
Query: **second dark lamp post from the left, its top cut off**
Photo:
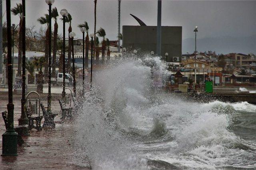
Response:
[[[26,44],[26,11],[25,0],[22,0],[22,44]],[[26,116],[26,45],[22,45],[22,99],[21,99],[21,115],[18,119],[18,125],[28,125],[28,117]],[[23,130],[23,134],[28,134],[28,129]]]

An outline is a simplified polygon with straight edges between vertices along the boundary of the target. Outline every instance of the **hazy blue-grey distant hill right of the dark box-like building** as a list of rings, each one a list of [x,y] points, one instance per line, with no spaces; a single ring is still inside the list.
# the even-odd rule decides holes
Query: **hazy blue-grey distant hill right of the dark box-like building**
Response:
[[[249,37],[212,37],[196,39],[197,51],[215,51],[216,54],[228,53],[254,53],[256,54],[256,35]],[[193,53],[195,50],[195,39],[182,40],[182,54]]]

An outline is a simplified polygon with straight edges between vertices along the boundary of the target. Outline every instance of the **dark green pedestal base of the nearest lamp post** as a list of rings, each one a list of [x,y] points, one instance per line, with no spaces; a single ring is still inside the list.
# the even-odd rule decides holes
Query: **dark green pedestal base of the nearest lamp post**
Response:
[[[2,155],[18,156],[17,154],[18,134],[13,130],[7,130],[2,135]]]

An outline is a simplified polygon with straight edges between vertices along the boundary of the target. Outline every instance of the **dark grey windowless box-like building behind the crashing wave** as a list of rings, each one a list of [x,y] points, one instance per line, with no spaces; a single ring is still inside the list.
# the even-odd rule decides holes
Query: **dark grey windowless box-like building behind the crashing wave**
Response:
[[[143,51],[154,51],[156,53],[156,26],[123,26],[123,45],[122,47],[140,48]],[[181,61],[182,47],[182,27],[181,26],[162,26],[162,47],[161,54],[168,53],[168,62]],[[179,61],[175,58],[179,57]],[[176,58],[177,59],[177,58]]]

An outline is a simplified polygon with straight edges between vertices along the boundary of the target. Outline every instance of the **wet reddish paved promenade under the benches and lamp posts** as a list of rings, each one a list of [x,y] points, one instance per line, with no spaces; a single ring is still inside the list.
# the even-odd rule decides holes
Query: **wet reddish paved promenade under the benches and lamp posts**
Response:
[[[0,101],[0,112],[5,111],[8,101]],[[47,106],[47,101],[42,101]],[[18,125],[20,117],[20,100],[14,101],[14,126]],[[72,122],[60,120],[60,105],[52,101],[53,113],[58,113],[54,119],[55,129],[36,131],[23,137],[24,144],[18,146],[18,156],[0,156],[0,169],[85,169],[72,164],[69,139],[74,133]],[[44,119],[42,119],[43,123]],[[42,125],[42,124],[41,124]],[[2,134],[5,132],[2,115],[0,117],[0,152],[2,154]]]

